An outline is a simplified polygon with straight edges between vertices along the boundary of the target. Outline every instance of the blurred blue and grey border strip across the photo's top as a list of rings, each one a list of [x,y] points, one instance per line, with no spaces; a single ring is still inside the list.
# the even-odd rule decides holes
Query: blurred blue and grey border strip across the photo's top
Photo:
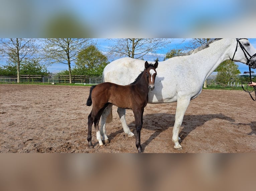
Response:
[[[0,37],[255,38],[255,1],[3,0]]]

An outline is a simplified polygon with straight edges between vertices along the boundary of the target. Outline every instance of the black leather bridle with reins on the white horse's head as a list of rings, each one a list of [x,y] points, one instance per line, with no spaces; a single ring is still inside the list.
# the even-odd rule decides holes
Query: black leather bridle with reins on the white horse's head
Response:
[[[245,38],[242,38],[242,39],[245,39]],[[233,59],[234,59],[234,57],[235,57],[235,54],[236,54],[236,51],[237,51],[237,47],[238,47],[238,43],[239,43],[239,46],[240,46],[240,48],[242,49],[242,51],[243,51],[243,53],[244,53],[244,56],[245,56],[245,58],[246,58],[246,60],[247,60],[246,65],[249,66],[250,81],[251,81],[250,84],[251,84],[251,83],[252,83],[251,66],[254,64],[254,62],[251,61],[251,59],[256,56],[256,53],[251,56],[251,55],[247,52],[247,50],[244,48],[244,46],[242,45],[242,43],[240,42],[240,40],[241,40],[241,39],[236,39],[236,41],[237,41],[236,50],[235,50],[235,53],[234,53],[234,55],[233,55],[232,61],[233,61]],[[247,39],[247,40],[248,40],[248,39]],[[247,55],[249,56],[249,58],[247,57]],[[243,87],[243,84],[245,84],[245,83],[242,83],[242,88],[243,88],[243,90],[244,90],[245,92],[249,93],[249,95],[251,96],[252,100],[255,101],[255,100],[256,100],[256,87],[255,87],[255,86],[252,87],[253,90],[252,90],[252,91],[249,91],[249,90],[248,90],[248,86],[249,86],[248,83],[247,83],[247,86],[246,86],[246,90],[245,90],[245,88]],[[254,91],[254,94],[255,94],[255,98],[253,98],[253,96],[251,95],[251,93],[252,93],[253,91]]]

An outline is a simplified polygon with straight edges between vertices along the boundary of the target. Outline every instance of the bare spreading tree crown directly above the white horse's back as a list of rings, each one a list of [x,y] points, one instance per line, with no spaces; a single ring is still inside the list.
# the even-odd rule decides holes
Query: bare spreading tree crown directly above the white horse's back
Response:
[[[130,57],[140,59],[148,53],[156,53],[159,48],[168,45],[169,39],[142,39],[126,38],[112,39],[113,45],[109,47],[109,55],[112,57]]]

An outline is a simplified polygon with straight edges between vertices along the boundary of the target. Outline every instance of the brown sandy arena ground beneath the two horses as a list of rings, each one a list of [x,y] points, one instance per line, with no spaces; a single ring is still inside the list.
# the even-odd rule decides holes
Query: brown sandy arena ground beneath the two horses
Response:
[[[137,153],[113,106],[110,145],[87,142],[90,87],[0,85],[1,153]],[[203,90],[191,100],[180,128],[182,150],[171,141],[175,103],[148,104],[143,116],[144,153],[247,153],[256,151],[256,102],[243,91]],[[135,132],[132,110],[127,124]]]

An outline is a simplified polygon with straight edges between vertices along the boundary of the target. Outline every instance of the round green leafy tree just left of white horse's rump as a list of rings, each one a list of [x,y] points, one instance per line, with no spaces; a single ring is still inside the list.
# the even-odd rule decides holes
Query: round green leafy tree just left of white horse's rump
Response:
[[[101,76],[108,63],[107,57],[95,45],[90,45],[78,54],[73,71],[80,75]]]

